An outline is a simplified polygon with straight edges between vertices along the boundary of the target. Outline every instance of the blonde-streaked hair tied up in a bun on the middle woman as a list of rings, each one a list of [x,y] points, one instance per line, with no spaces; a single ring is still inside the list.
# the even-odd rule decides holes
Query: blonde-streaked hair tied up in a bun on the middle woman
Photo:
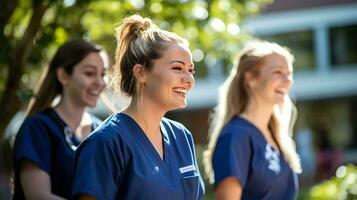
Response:
[[[158,28],[149,18],[132,15],[125,18],[116,29],[117,49],[113,68],[114,87],[132,96],[136,94],[136,81],[133,74],[135,64],[146,69],[152,67],[152,60],[161,57],[167,44],[180,44],[188,47],[188,41]]]

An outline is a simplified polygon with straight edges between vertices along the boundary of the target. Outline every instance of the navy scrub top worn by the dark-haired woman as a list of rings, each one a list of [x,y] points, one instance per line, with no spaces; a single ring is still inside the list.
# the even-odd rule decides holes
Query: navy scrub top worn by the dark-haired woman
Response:
[[[94,116],[91,118],[94,130],[101,121]],[[80,142],[74,135],[68,138],[71,141],[67,142],[65,127],[68,126],[53,109],[35,114],[22,124],[14,147],[14,199],[25,199],[19,176],[22,159],[32,161],[49,174],[53,194],[66,199],[71,198],[74,150],[70,144],[78,146]]]

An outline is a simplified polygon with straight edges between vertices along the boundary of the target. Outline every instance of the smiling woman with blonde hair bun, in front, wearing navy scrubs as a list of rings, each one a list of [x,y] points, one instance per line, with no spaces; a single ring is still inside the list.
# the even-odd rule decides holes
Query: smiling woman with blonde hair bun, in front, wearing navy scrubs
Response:
[[[132,15],[117,29],[115,86],[131,96],[76,151],[75,199],[201,199],[191,133],[164,117],[184,108],[194,65],[187,40]]]

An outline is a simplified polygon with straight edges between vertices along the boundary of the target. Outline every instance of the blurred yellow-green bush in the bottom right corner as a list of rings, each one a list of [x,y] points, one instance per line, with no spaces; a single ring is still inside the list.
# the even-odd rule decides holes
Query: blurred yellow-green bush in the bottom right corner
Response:
[[[336,171],[336,177],[311,188],[308,194],[310,200],[354,200],[357,199],[357,167],[341,166]]]

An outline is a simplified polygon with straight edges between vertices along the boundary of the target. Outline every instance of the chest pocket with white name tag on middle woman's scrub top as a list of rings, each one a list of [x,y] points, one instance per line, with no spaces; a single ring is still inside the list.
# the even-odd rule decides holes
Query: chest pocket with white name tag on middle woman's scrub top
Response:
[[[180,168],[185,200],[196,200],[199,195],[200,176],[193,165]]]

